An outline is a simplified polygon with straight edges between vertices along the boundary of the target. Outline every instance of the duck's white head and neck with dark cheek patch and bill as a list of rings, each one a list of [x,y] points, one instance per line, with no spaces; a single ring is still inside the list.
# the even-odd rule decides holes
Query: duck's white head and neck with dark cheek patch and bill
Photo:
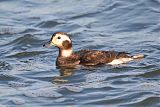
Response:
[[[72,41],[67,33],[56,32],[52,35],[50,41],[43,45],[44,47],[56,46],[60,50],[60,56],[69,56],[72,54]]]

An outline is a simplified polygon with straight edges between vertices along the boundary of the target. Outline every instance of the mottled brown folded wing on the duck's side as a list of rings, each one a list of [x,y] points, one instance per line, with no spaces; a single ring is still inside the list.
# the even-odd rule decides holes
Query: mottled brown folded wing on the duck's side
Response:
[[[80,64],[82,65],[99,65],[110,63],[114,59],[130,58],[127,53],[116,51],[84,50],[78,53],[80,55]]]

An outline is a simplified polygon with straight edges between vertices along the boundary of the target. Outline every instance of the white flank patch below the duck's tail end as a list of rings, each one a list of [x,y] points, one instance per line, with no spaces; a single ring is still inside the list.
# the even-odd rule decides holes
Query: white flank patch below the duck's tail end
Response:
[[[118,64],[127,63],[132,60],[133,60],[132,58],[120,58],[120,59],[114,59],[112,62],[110,62],[108,64],[109,65],[118,65]]]

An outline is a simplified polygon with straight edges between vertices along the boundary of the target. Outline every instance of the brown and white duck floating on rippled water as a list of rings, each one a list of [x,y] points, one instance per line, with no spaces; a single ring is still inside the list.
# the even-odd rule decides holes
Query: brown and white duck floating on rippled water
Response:
[[[144,58],[143,54],[130,55],[126,52],[103,51],[103,50],[79,50],[74,52],[72,48],[72,40],[69,34],[65,32],[55,32],[49,42],[44,47],[55,46],[59,50],[56,59],[56,66],[96,66],[102,64],[119,65],[129,61]]]

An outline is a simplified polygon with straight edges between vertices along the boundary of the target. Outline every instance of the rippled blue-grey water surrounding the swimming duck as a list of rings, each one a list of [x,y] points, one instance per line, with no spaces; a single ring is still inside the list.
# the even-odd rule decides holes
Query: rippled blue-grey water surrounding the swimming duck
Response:
[[[55,66],[51,34],[74,50],[142,53],[120,66]],[[1,0],[0,106],[160,106],[160,0]],[[68,75],[68,76],[66,76]]]

